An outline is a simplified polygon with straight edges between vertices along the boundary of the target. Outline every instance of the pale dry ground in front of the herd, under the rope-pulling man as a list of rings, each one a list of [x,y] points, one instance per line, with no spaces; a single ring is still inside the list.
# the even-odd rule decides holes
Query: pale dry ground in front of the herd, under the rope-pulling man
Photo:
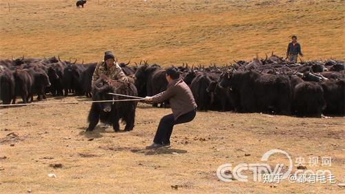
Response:
[[[48,99],[75,101],[80,97]],[[135,129],[84,133],[90,104],[25,106],[0,110],[0,193],[341,193],[337,184],[220,182],[225,163],[258,163],[279,148],[308,169],[344,176],[343,117],[296,118],[265,114],[197,113],[175,126],[172,147],[147,151],[159,119],[170,109],[139,104]],[[9,135],[14,133],[15,135]],[[93,139],[89,141],[89,139]],[[14,146],[10,146],[14,144]],[[177,154],[174,154],[177,153]],[[244,156],[250,154],[249,156]],[[331,167],[308,166],[309,157],[332,157]],[[284,162],[274,155],[270,164]],[[50,164],[62,164],[52,168]],[[294,167],[294,171],[296,168]],[[55,173],[56,178],[48,177]],[[175,190],[171,186],[178,185]]]

